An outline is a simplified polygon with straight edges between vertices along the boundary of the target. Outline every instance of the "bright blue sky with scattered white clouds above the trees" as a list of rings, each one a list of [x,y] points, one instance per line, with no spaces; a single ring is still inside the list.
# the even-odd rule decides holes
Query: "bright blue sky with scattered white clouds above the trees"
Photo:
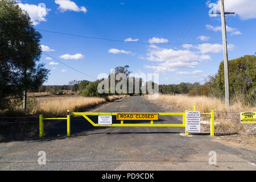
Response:
[[[44,52],[94,78],[100,73],[108,74],[112,68],[129,65],[133,73],[159,73],[160,84],[203,83],[217,72],[223,60],[222,42],[215,42],[222,40],[220,16],[208,15],[209,4],[217,0],[18,2],[40,30],[121,40],[40,31]],[[225,0],[226,11],[236,12],[226,18],[229,60],[256,52],[255,2]],[[133,42],[125,42],[126,39]],[[51,69],[44,85],[93,81],[47,57],[42,54],[40,60]]]

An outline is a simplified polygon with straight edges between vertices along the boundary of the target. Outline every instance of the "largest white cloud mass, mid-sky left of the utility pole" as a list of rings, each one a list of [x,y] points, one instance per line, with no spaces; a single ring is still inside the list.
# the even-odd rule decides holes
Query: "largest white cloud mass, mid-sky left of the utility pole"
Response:
[[[196,65],[199,65],[198,61],[210,60],[210,56],[190,50],[149,48],[146,59],[162,63],[158,65],[144,65],[145,68],[151,68],[155,72],[164,73],[175,72],[178,68],[195,68]]]

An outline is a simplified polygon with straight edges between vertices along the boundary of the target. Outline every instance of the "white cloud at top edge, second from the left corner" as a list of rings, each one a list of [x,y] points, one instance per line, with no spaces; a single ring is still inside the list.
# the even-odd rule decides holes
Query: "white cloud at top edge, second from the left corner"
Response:
[[[55,0],[55,3],[57,5],[60,5],[59,10],[61,12],[65,12],[65,11],[68,11],[68,10],[69,11],[76,11],[76,12],[82,11],[84,13],[87,12],[87,9],[84,6],[78,7],[75,2],[70,1],[70,0]]]

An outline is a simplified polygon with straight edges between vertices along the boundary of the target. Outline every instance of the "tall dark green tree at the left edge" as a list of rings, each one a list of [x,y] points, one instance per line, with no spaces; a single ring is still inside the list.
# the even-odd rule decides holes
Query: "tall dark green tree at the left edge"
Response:
[[[42,35],[35,31],[28,14],[10,0],[0,1],[0,34],[1,88],[9,88],[3,89],[0,97],[8,100],[23,92],[26,113],[27,90],[37,90],[48,79],[44,64],[36,65],[42,52]]]

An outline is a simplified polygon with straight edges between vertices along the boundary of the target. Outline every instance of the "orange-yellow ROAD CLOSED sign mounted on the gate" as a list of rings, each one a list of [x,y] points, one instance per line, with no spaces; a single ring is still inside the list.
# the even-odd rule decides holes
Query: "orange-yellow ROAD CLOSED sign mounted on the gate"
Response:
[[[158,120],[158,113],[117,113],[117,120]]]

